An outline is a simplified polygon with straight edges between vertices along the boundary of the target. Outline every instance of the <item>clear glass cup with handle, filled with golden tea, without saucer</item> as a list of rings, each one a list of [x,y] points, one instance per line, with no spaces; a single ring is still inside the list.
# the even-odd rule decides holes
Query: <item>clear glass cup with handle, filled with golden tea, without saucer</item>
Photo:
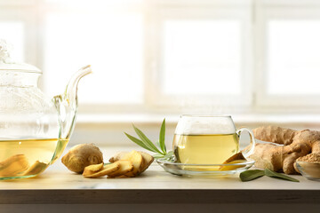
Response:
[[[251,130],[236,130],[229,115],[181,115],[173,138],[176,162],[188,164],[220,164],[239,152],[239,137],[250,135],[244,157],[252,154],[255,140]]]

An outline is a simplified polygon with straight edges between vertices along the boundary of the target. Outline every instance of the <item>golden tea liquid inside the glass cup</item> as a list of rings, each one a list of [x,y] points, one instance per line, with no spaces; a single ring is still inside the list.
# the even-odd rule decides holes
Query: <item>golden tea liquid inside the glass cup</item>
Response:
[[[173,138],[174,154],[177,162],[191,164],[219,164],[225,162],[239,148],[238,136],[178,135]]]

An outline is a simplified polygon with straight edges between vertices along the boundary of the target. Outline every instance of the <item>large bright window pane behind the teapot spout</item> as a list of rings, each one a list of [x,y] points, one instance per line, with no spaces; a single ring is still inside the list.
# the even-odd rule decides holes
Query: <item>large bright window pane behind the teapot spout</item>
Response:
[[[93,75],[79,85],[81,102],[140,103],[142,23],[139,14],[49,14],[44,49],[46,91],[61,92],[77,68],[91,64]]]

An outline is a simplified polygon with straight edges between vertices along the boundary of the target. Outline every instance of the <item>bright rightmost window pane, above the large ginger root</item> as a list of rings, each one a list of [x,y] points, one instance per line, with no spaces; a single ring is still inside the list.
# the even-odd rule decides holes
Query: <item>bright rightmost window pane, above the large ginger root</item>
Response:
[[[268,22],[268,93],[320,94],[320,20]]]

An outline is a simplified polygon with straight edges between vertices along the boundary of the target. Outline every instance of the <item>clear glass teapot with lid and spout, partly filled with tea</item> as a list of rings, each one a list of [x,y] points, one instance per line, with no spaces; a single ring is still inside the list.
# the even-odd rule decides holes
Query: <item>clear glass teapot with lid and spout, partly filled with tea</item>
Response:
[[[0,179],[35,177],[55,162],[74,130],[77,84],[92,72],[83,67],[66,91],[47,99],[37,87],[42,72],[10,59],[0,40]]]

